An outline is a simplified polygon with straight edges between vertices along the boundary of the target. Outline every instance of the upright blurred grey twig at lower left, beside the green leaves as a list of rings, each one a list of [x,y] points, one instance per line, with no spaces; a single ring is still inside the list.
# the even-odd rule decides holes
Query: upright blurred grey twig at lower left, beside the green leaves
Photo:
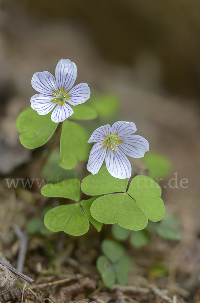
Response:
[[[17,258],[17,270],[21,272],[23,271],[23,267],[24,267],[24,261],[25,261],[27,244],[28,244],[28,236],[27,233],[25,231],[22,232],[16,224],[14,225],[14,231],[16,236],[20,240],[20,248]]]

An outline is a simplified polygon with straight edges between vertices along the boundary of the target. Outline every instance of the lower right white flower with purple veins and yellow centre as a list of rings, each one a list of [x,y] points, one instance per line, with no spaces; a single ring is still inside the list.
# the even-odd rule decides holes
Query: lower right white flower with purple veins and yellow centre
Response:
[[[135,124],[125,121],[118,121],[112,127],[107,124],[97,128],[88,140],[88,143],[96,142],[90,151],[88,171],[97,174],[105,159],[107,170],[113,177],[130,178],[132,168],[126,155],[141,158],[149,150],[145,138],[132,135],[135,131]]]

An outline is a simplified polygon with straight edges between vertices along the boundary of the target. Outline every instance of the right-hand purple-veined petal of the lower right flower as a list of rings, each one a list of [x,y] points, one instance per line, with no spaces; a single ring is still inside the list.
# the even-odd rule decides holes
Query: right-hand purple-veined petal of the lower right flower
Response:
[[[121,138],[122,142],[118,148],[126,155],[133,158],[142,158],[146,151],[149,150],[148,141],[138,135],[126,136]]]

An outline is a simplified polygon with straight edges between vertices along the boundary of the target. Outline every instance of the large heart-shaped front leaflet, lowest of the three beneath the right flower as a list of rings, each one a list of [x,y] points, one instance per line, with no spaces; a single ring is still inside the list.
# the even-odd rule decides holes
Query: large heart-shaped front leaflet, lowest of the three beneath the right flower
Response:
[[[118,223],[130,230],[147,225],[147,215],[126,193],[109,194],[96,199],[90,208],[93,218],[105,224]]]

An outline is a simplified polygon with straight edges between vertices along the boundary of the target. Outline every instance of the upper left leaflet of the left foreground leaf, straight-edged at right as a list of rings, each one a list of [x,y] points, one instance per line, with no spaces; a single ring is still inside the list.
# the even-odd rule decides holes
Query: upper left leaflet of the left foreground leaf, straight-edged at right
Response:
[[[41,189],[45,197],[59,197],[79,201],[80,181],[78,179],[67,179],[56,184],[46,184]]]

